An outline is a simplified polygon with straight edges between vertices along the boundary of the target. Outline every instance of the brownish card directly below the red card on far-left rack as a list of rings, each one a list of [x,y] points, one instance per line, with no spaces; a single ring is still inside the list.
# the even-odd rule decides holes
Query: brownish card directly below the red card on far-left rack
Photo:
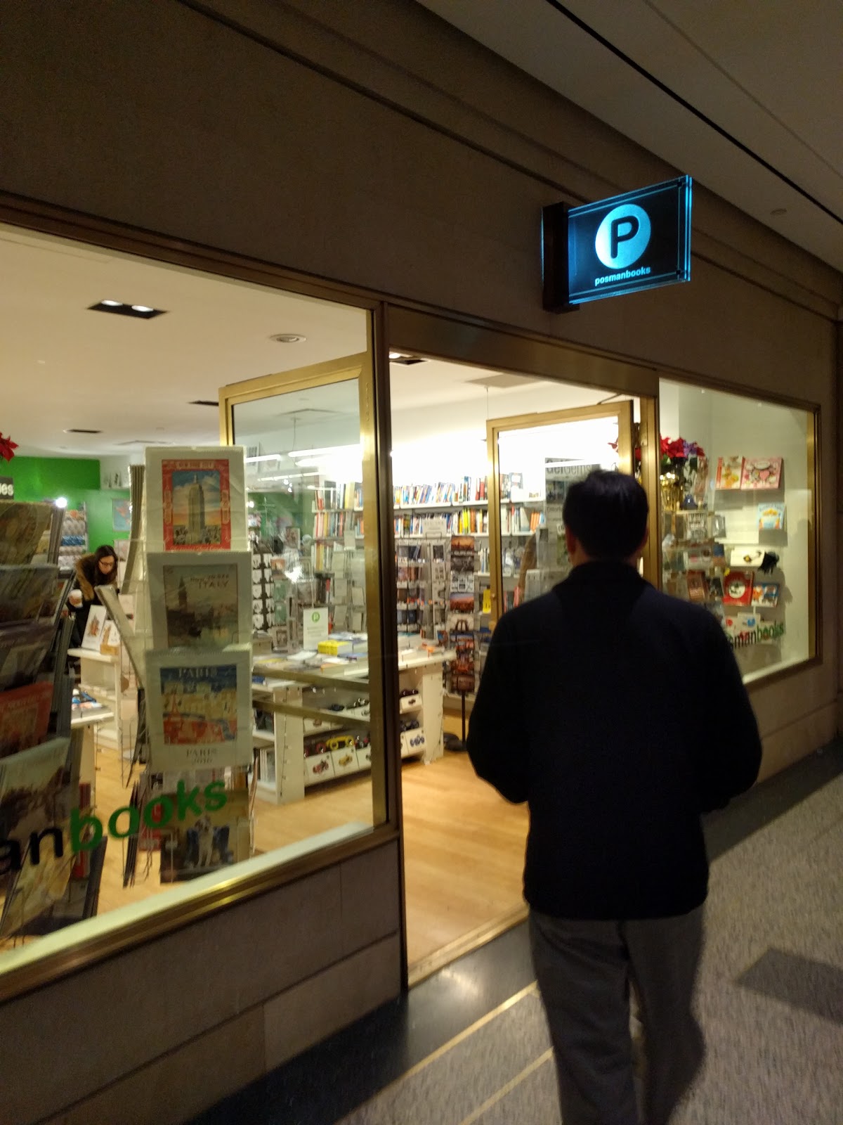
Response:
[[[69,814],[65,808],[70,739],[53,738],[0,758],[0,837],[24,844]]]

